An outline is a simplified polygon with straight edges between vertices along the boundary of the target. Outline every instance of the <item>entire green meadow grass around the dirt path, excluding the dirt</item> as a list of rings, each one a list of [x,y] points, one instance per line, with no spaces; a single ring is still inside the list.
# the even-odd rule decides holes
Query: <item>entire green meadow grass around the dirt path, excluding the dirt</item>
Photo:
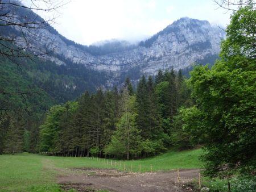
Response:
[[[22,153],[18,155],[0,156],[0,191],[60,191],[55,177],[60,174],[60,168],[111,168],[133,172],[150,172],[171,169],[200,168],[199,156],[201,149],[175,152],[169,151],[163,155],[145,158],[143,160],[102,160],[85,157],[55,157]],[[107,164],[108,161],[108,164]],[[112,161],[112,165],[110,162]],[[121,163],[121,167],[120,167]]]

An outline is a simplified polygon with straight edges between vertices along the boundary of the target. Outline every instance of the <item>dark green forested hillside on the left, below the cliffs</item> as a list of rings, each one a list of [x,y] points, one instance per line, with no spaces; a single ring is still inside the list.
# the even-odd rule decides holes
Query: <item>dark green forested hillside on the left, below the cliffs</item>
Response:
[[[37,57],[0,57],[0,74],[0,154],[13,151],[12,143],[18,146],[19,142],[28,145],[15,147],[15,151],[36,152],[39,125],[46,111],[78,98],[85,90],[93,92],[106,81],[105,73],[70,61],[56,65]],[[18,130],[8,131],[11,124]]]

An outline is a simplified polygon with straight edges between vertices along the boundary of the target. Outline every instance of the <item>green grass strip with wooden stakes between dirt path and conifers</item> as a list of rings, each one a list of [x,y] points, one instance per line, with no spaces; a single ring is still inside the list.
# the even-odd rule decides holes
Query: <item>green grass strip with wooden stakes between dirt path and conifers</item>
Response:
[[[201,167],[199,156],[203,153],[201,149],[192,151],[169,151],[163,155],[158,155],[151,158],[144,158],[143,160],[104,160],[101,158],[85,158],[85,157],[52,157],[45,156],[48,160],[54,162],[58,168],[79,168],[82,166],[91,168],[112,168],[124,170],[126,164],[126,171],[139,172],[139,165],[141,165],[141,172],[150,172],[151,165],[152,171],[159,170],[172,170],[172,169],[195,169]],[[103,161],[103,162],[102,162]],[[112,165],[110,165],[112,161]],[[120,167],[121,164],[121,167]]]

